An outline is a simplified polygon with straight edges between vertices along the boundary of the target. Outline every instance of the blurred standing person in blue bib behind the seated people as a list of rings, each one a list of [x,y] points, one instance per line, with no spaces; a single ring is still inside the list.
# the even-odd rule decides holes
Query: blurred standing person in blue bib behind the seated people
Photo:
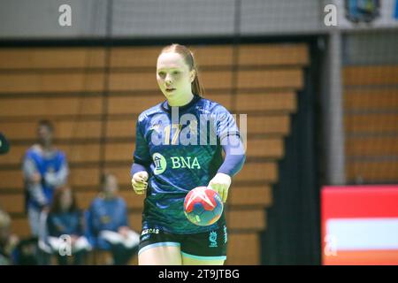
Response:
[[[48,210],[54,189],[66,183],[69,173],[65,153],[53,142],[54,127],[48,120],[39,122],[38,143],[27,149],[23,160],[26,205],[32,235],[39,235],[40,213]]]

